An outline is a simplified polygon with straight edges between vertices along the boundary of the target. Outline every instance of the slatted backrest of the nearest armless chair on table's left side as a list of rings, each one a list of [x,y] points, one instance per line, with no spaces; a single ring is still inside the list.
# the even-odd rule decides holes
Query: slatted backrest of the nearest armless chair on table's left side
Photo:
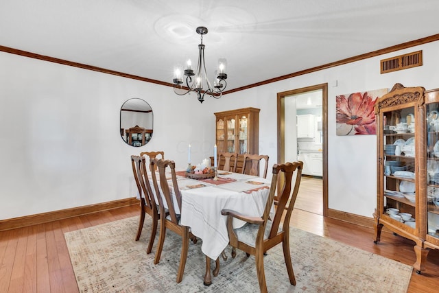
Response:
[[[176,213],[176,209],[174,207],[173,196],[176,197],[178,210],[181,211],[181,194],[180,189],[178,189],[177,176],[176,176],[176,164],[174,161],[164,160],[164,159],[150,159],[150,168],[154,169],[154,167],[158,168],[158,176],[157,180],[156,172],[152,172],[152,182],[154,183],[154,189],[156,190],[156,195],[158,199],[158,205],[160,206],[160,211],[162,215],[165,215],[165,205],[163,204],[165,200],[167,204],[167,209],[169,211],[169,216],[171,217],[171,221],[175,224],[178,224],[178,217]],[[166,178],[166,169],[171,169],[171,178],[172,185],[174,187],[174,194],[172,194],[171,189],[169,188],[169,184]],[[158,186],[160,184],[160,187]]]

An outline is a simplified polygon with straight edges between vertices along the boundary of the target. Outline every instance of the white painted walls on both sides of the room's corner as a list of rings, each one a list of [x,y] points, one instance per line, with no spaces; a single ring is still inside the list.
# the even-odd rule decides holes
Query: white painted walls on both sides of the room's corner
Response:
[[[379,74],[379,60],[423,50],[423,67]],[[260,108],[259,153],[276,163],[276,94],[329,83],[329,208],[372,216],[376,204],[375,135],[335,135],[335,95],[404,86],[439,87],[439,42],[300,75],[225,95],[177,96],[150,84],[0,52],[0,220],[133,196],[130,155],[164,150],[177,167],[213,154],[214,112]],[[244,65],[243,65],[244,66]],[[230,78],[233,78],[230,76]],[[331,87],[334,80],[338,86]],[[141,148],[123,142],[119,110],[145,99],[154,137]]]

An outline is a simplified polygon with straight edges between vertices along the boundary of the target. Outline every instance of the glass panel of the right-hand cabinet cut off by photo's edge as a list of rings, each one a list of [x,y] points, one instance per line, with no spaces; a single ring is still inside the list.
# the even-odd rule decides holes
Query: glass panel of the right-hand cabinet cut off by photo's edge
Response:
[[[439,103],[426,104],[427,233],[439,239]]]

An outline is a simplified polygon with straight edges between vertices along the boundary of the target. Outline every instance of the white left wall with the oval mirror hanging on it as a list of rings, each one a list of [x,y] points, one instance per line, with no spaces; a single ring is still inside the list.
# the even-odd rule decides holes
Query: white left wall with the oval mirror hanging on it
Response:
[[[154,110],[154,137],[140,148],[119,133],[132,97]],[[185,167],[191,143],[201,162],[213,155],[217,101],[0,52],[0,220],[133,196],[130,155],[141,151],[164,150]]]

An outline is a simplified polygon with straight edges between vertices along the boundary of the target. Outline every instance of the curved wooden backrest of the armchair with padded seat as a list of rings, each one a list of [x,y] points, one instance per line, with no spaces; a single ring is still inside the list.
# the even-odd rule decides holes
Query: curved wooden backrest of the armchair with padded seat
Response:
[[[283,231],[285,229],[289,229],[289,219],[291,218],[291,213],[294,208],[294,203],[296,202],[300,178],[302,177],[302,167],[303,163],[301,161],[293,162],[293,163],[285,163],[281,165],[275,164],[273,166],[273,177],[272,177],[272,185],[270,186],[270,194],[268,195],[267,204],[265,205],[265,210],[263,213],[263,220],[265,223],[268,220],[270,215],[271,207],[274,201],[274,194],[276,194],[276,184],[278,181],[278,173],[281,172],[283,175],[283,186],[279,189],[281,193],[278,194],[277,209],[274,214],[274,218],[272,221],[272,228],[270,231],[270,235],[268,238],[272,238],[277,235],[279,224],[281,224],[281,219],[283,218],[283,212],[286,209],[287,213],[285,214],[285,218],[283,220]],[[296,173],[296,180],[293,183],[293,177]],[[278,187],[279,188],[279,187]],[[287,233],[287,232],[286,232]]]

